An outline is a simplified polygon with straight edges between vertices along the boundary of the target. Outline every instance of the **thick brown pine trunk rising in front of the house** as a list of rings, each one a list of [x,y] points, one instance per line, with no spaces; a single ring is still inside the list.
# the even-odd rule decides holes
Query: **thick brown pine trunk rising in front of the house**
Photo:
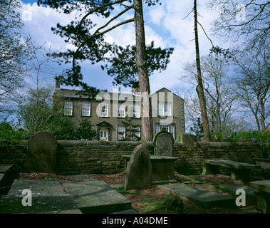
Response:
[[[150,100],[150,83],[146,66],[145,26],[143,21],[142,0],[134,0],[136,31],[136,65],[140,82],[142,110],[142,141],[152,141],[152,105]]]

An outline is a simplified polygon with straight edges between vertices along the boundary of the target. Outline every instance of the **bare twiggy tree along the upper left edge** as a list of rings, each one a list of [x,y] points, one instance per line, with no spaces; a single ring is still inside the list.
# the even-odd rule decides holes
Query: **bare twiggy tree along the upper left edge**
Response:
[[[25,64],[31,58],[29,38],[20,32],[24,27],[20,9],[20,1],[0,0],[0,114],[8,113],[20,98],[28,73]]]

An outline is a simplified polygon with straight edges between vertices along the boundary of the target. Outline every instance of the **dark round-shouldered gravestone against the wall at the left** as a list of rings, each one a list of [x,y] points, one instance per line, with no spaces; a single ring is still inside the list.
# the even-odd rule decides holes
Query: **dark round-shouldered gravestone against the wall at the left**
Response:
[[[33,134],[28,140],[26,170],[28,172],[55,172],[56,138],[46,131]]]

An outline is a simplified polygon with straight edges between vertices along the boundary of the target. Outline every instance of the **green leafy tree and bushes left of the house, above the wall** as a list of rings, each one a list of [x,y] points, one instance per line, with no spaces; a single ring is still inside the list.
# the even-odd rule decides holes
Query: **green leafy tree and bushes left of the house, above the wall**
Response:
[[[57,140],[73,140],[75,130],[68,116],[63,115],[63,107],[57,101],[53,104],[51,88],[28,90],[26,98],[18,108],[19,123],[26,130],[27,138],[38,131],[46,130]]]

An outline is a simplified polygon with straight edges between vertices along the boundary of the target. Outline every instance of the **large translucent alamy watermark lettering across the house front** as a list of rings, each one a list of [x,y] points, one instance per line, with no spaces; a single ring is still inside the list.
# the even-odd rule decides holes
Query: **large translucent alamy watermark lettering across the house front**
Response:
[[[98,93],[96,100],[101,101],[96,108],[98,117],[110,117],[111,109],[113,117],[134,117],[137,114],[135,113],[136,108],[140,112],[140,118],[149,117],[149,110],[151,108],[152,117],[160,117],[160,125],[170,125],[173,121],[174,94],[169,91],[166,93],[152,93],[151,95],[146,92],[136,92],[135,94],[118,93],[118,88],[114,87],[113,93]],[[120,110],[123,112],[120,113]]]

